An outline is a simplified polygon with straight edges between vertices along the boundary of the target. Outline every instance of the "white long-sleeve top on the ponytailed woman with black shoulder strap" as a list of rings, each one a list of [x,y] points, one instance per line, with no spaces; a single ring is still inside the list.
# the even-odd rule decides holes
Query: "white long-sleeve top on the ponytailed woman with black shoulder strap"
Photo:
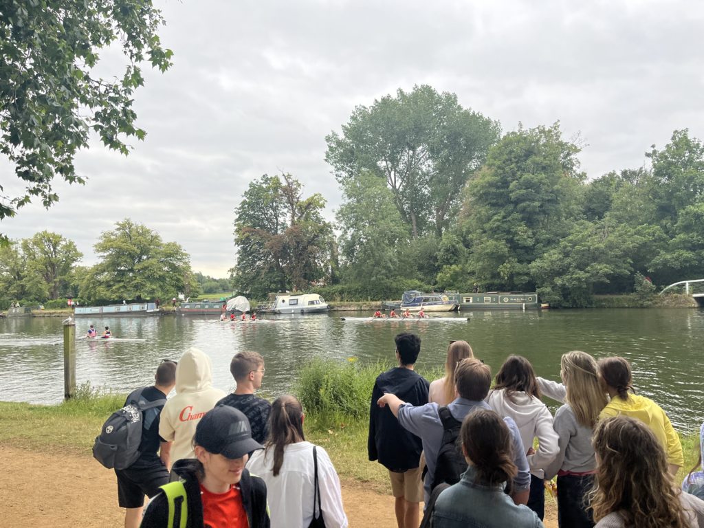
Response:
[[[322,519],[327,528],[346,528],[348,522],[342,508],[340,479],[325,449],[318,446],[316,452]],[[255,451],[247,463],[249,472],[266,482],[271,528],[307,528],[313,520],[313,444],[298,442],[285,446],[284,463],[276,477],[273,467],[273,448],[268,452],[263,449]]]

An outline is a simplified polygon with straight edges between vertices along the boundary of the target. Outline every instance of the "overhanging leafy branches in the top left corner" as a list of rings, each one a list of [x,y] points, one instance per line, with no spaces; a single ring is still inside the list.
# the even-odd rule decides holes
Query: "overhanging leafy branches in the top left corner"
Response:
[[[34,196],[51,206],[54,176],[84,183],[73,160],[90,131],[124,154],[127,138],[144,139],[132,103],[140,65],[171,65],[162,23],[151,0],[0,0],[0,153],[26,185],[20,196],[0,185],[0,220]],[[99,51],[115,43],[127,66],[99,77]]]

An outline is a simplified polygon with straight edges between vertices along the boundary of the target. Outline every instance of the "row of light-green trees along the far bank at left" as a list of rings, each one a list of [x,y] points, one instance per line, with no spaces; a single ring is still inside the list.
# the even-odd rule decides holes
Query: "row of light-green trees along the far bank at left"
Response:
[[[84,266],[75,243],[58,233],[42,231],[0,245],[0,308],[19,301],[63,308],[66,298],[97,304],[168,300],[179,293],[199,294],[201,284],[208,289],[213,288],[208,283],[222,285],[194,274],[179,244],[163,241],[130,218],[103,232],[93,248],[99,261]]]

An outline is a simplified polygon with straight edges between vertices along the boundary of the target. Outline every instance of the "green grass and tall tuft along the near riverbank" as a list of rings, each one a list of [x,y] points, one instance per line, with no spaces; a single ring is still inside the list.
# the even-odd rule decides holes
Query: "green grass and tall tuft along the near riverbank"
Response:
[[[374,380],[388,366],[360,366],[354,358],[315,360],[303,367],[294,390],[306,411],[306,438],[325,447],[340,477],[382,493],[389,491],[388,477],[384,467],[367,460],[367,428]],[[420,374],[435,379],[441,372]],[[101,425],[124,400],[124,394],[84,384],[75,398],[55,406],[0,402],[0,445],[89,456]],[[698,429],[681,440],[685,464],[678,482],[698,459]]]

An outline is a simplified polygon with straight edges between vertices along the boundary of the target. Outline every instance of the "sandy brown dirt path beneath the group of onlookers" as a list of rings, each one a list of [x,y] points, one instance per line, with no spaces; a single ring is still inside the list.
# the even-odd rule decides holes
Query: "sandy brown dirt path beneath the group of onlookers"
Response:
[[[0,446],[0,524],[32,528],[118,528],[115,474],[92,458],[65,453],[34,453]],[[342,498],[350,527],[396,528],[394,499],[343,482]],[[546,527],[557,523],[546,522]]]

